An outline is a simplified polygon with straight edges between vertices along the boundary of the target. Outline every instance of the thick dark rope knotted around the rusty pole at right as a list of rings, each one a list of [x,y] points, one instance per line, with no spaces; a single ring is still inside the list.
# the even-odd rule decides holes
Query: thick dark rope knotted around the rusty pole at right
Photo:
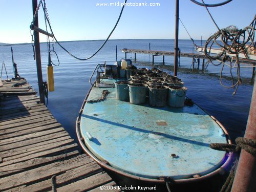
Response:
[[[210,148],[218,151],[226,151],[226,152],[240,152],[241,149],[250,153],[253,156],[256,156],[256,140],[248,139],[244,137],[238,137],[236,139],[235,144],[227,144],[227,143],[211,143]]]

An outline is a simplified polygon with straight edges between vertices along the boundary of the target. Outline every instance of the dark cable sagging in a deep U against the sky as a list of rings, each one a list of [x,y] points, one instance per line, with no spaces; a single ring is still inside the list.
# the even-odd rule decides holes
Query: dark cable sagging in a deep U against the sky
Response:
[[[88,60],[88,59],[92,58],[93,56],[95,56],[95,55],[104,47],[104,45],[105,45],[106,42],[109,40],[109,38],[110,38],[110,36],[112,35],[112,33],[114,32],[114,30],[116,29],[116,26],[117,26],[117,24],[119,23],[119,20],[120,20],[120,18],[121,18],[121,15],[122,15],[124,6],[125,6],[125,4],[126,4],[126,2],[127,2],[127,0],[125,0],[124,5],[122,6],[121,12],[120,12],[120,14],[119,14],[119,17],[118,17],[118,19],[117,19],[117,22],[116,22],[114,28],[112,29],[112,31],[110,32],[110,34],[109,34],[109,36],[106,38],[106,40],[103,42],[103,44],[99,47],[99,49],[98,49],[94,54],[92,54],[90,57],[87,57],[87,58],[79,58],[79,57],[76,57],[75,55],[73,55],[72,53],[70,53],[70,52],[69,52],[67,49],[65,49],[63,46],[61,46],[61,45],[60,45],[60,42],[56,39],[56,37],[55,37],[55,35],[54,35],[54,33],[53,33],[53,30],[52,30],[52,26],[51,26],[51,23],[50,23],[49,15],[48,15],[48,12],[47,12],[47,9],[46,9],[45,0],[43,0],[43,1],[44,1],[44,6],[42,6],[42,9],[44,10],[44,14],[46,15],[48,25],[49,25],[49,27],[50,27],[50,30],[51,30],[51,32],[52,32],[52,35],[53,35],[55,41],[57,42],[57,44],[58,44],[64,51],[66,51],[69,55],[71,55],[72,57],[74,57],[74,58],[76,58],[76,59],[78,59],[78,60]]]

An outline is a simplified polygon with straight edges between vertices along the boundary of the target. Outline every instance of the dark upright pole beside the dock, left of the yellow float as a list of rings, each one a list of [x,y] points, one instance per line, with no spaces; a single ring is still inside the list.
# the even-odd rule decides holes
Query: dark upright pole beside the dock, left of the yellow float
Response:
[[[37,0],[32,0],[32,6],[33,6],[33,15],[34,15],[35,10],[37,9]],[[38,27],[38,16],[37,15],[36,15],[36,19],[34,22],[34,26]],[[42,87],[40,41],[39,41],[39,33],[37,31],[34,31],[34,40],[35,40],[36,70],[37,70],[40,103],[45,103],[44,89]]]

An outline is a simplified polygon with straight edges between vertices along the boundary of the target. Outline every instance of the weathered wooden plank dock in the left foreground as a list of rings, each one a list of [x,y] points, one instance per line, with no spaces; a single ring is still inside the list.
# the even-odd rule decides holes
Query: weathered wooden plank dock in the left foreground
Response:
[[[116,185],[91,157],[78,151],[26,80],[3,85],[0,191],[101,191],[101,185]]]

